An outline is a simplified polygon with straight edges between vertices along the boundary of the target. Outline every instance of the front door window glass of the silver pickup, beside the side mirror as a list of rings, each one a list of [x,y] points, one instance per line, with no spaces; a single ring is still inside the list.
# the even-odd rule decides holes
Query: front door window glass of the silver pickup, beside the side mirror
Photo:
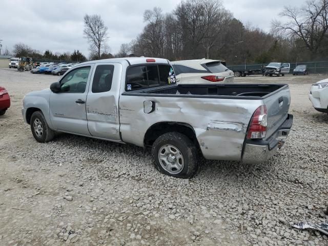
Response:
[[[83,67],[70,71],[60,81],[61,91],[84,93],[86,91],[89,73],[90,67]]]

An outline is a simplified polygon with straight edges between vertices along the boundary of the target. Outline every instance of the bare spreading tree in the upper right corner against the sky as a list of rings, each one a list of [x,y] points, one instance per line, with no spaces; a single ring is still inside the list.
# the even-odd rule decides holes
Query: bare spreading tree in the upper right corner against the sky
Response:
[[[289,19],[286,23],[272,22],[272,29],[278,33],[300,39],[313,55],[320,52],[328,31],[328,1],[308,1],[301,8],[284,7],[280,16]],[[327,47],[325,47],[327,48]]]

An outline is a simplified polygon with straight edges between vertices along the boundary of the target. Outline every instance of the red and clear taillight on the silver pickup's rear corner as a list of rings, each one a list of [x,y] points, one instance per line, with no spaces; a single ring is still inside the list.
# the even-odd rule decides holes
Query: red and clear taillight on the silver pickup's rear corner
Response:
[[[261,139],[267,135],[268,115],[267,107],[262,105],[258,107],[251,119],[251,124],[248,129],[248,139]]]

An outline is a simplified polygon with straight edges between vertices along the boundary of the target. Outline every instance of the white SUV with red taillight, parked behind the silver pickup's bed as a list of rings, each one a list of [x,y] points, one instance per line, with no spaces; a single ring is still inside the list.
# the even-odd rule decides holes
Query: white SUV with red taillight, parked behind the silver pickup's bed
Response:
[[[221,60],[196,59],[171,61],[177,84],[233,83],[234,73]]]

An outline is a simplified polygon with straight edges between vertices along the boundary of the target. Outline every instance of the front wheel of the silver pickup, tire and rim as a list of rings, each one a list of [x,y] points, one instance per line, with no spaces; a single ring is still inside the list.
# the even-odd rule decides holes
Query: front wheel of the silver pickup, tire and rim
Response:
[[[49,128],[41,111],[35,111],[32,114],[30,125],[33,137],[38,142],[49,142],[55,136],[55,131]]]

